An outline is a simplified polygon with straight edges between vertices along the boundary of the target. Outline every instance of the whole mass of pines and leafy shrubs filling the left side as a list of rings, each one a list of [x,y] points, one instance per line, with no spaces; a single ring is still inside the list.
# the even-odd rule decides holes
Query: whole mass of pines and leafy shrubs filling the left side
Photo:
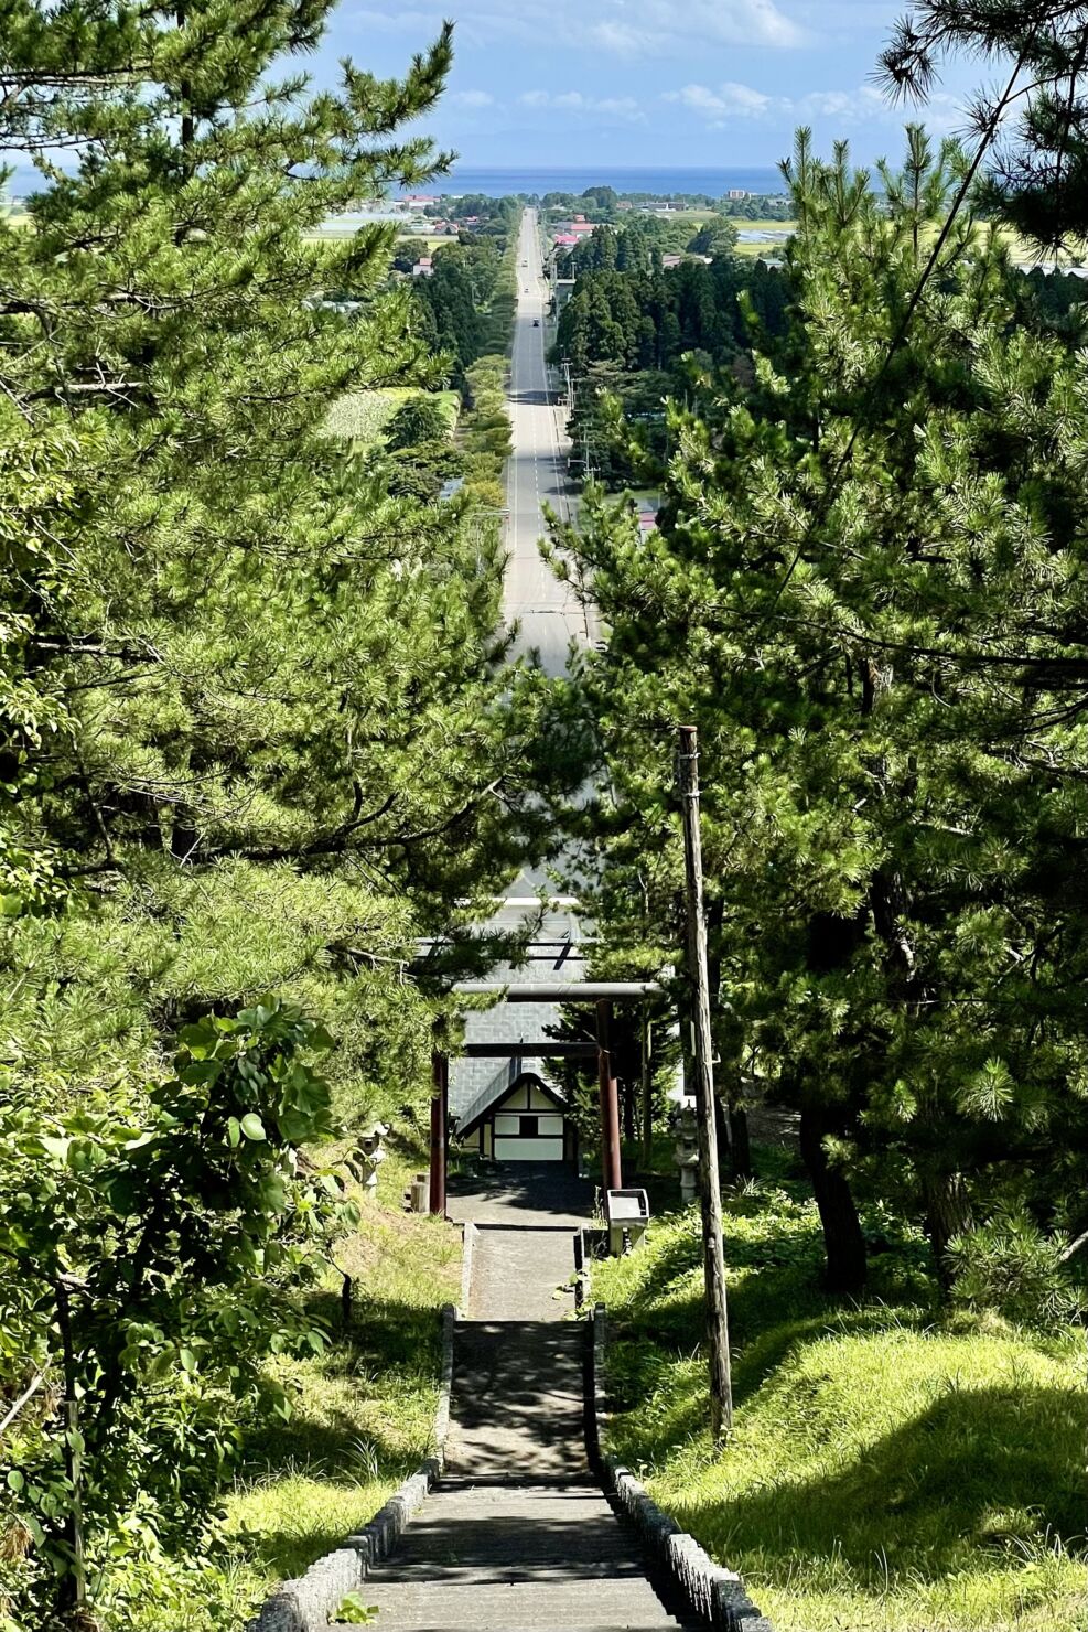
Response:
[[[449,976],[489,963],[468,924],[543,845],[494,526],[325,434],[344,392],[440,385],[440,344],[467,455],[501,462],[480,312],[467,344],[445,274],[391,281],[391,228],[318,233],[426,181],[398,129],[450,36],[401,82],[266,103],[328,10],[8,7],[0,147],[42,168],[29,227],[0,220],[13,1629],[215,1596],[241,1426],[290,1408],[264,1361],[331,1340],[305,1289],[351,1217],[333,1155],[375,1111],[411,1133]],[[498,333],[502,255],[452,253]]]

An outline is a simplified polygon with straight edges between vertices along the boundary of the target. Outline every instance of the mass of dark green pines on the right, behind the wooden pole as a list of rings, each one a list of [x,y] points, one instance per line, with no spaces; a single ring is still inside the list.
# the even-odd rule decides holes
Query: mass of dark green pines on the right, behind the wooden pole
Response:
[[[785,1105],[830,1288],[866,1283],[882,1213],[961,1301],[1046,1325],[1083,1307],[1088,1239],[1088,393],[1041,297],[1083,282],[1024,279],[949,220],[959,173],[912,129],[878,193],[803,137],[778,331],[750,331],[749,369],[688,370],[667,460],[613,416],[659,529],[597,490],[561,532],[608,632],[584,669],[608,800],[568,819],[604,855],[599,956],[661,976],[672,744],[698,726],[734,1172],[749,1110]],[[638,279],[581,282],[568,344],[638,357],[646,294],[628,323],[615,287]]]

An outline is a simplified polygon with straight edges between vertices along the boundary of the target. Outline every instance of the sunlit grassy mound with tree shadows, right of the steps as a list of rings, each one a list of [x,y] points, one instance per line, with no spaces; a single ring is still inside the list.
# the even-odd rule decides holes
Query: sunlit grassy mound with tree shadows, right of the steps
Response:
[[[736,1431],[711,1456],[697,1209],[602,1265],[612,1448],[778,1632],[1085,1629],[1083,1333],[944,1319],[879,1221],[874,1288],[819,1291],[796,1185],[728,1203]]]

